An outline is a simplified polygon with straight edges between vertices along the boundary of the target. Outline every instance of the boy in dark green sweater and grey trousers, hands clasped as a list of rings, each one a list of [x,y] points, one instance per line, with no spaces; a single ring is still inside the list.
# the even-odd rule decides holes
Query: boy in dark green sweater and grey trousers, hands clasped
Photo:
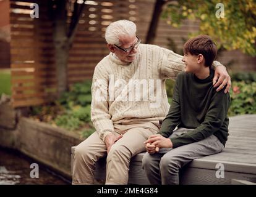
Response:
[[[184,45],[185,72],[160,131],[145,141],[142,163],[151,184],[179,184],[179,169],[195,158],[220,153],[228,140],[230,97],[213,87],[217,49],[207,35]],[[173,131],[177,126],[177,130]]]

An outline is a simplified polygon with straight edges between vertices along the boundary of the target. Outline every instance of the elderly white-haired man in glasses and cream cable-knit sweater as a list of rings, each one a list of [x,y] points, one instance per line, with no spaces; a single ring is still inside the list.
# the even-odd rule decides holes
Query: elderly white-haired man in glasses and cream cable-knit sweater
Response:
[[[106,158],[106,184],[127,184],[132,156],[145,151],[143,142],[160,129],[169,110],[165,79],[184,71],[182,56],[140,44],[136,25],[128,20],[106,29],[110,54],[95,67],[92,84],[94,132],[75,148],[73,184],[93,184],[95,163]],[[231,87],[226,68],[213,62],[213,85]],[[143,86],[143,89],[141,89]]]

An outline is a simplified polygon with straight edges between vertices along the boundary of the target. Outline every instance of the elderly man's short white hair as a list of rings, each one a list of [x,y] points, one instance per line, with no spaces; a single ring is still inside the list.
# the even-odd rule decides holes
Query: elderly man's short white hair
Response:
[[[110,23],[106,28],[105,39],[108,44],[121,44],[119,38],[121,36],[134,36],[137,28],[134,22],[129,20],[117,20]]]

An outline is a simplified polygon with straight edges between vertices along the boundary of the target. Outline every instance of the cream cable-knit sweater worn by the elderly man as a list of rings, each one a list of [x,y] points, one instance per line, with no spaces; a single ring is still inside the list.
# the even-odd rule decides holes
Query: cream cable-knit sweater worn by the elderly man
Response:
[[[103,142],[106,135],[114,132],[113,124],[158,121],[166,116],[169,103],[165,79],[176,79],[177,74],[184,71],[181,60],[182,56],[171,50],[140,44],[132,63],[121,62],[110,53],[96,65],[91,118]],[[215,66],[219,64],[213,63]],[[139,86],[130,88],[134,87],[131,81]],[[139,87],[142,87],[140,82],[143,88],[139,91]]]

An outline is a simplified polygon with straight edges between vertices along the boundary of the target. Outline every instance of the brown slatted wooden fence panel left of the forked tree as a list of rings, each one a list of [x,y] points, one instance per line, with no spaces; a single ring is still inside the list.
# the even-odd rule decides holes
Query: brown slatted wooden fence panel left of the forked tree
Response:
[[[31,18],[30,4],[40,4]],[[53,22],[48,1],[10,1],[12,104],[27,107],[50,102],[56,95]]]

